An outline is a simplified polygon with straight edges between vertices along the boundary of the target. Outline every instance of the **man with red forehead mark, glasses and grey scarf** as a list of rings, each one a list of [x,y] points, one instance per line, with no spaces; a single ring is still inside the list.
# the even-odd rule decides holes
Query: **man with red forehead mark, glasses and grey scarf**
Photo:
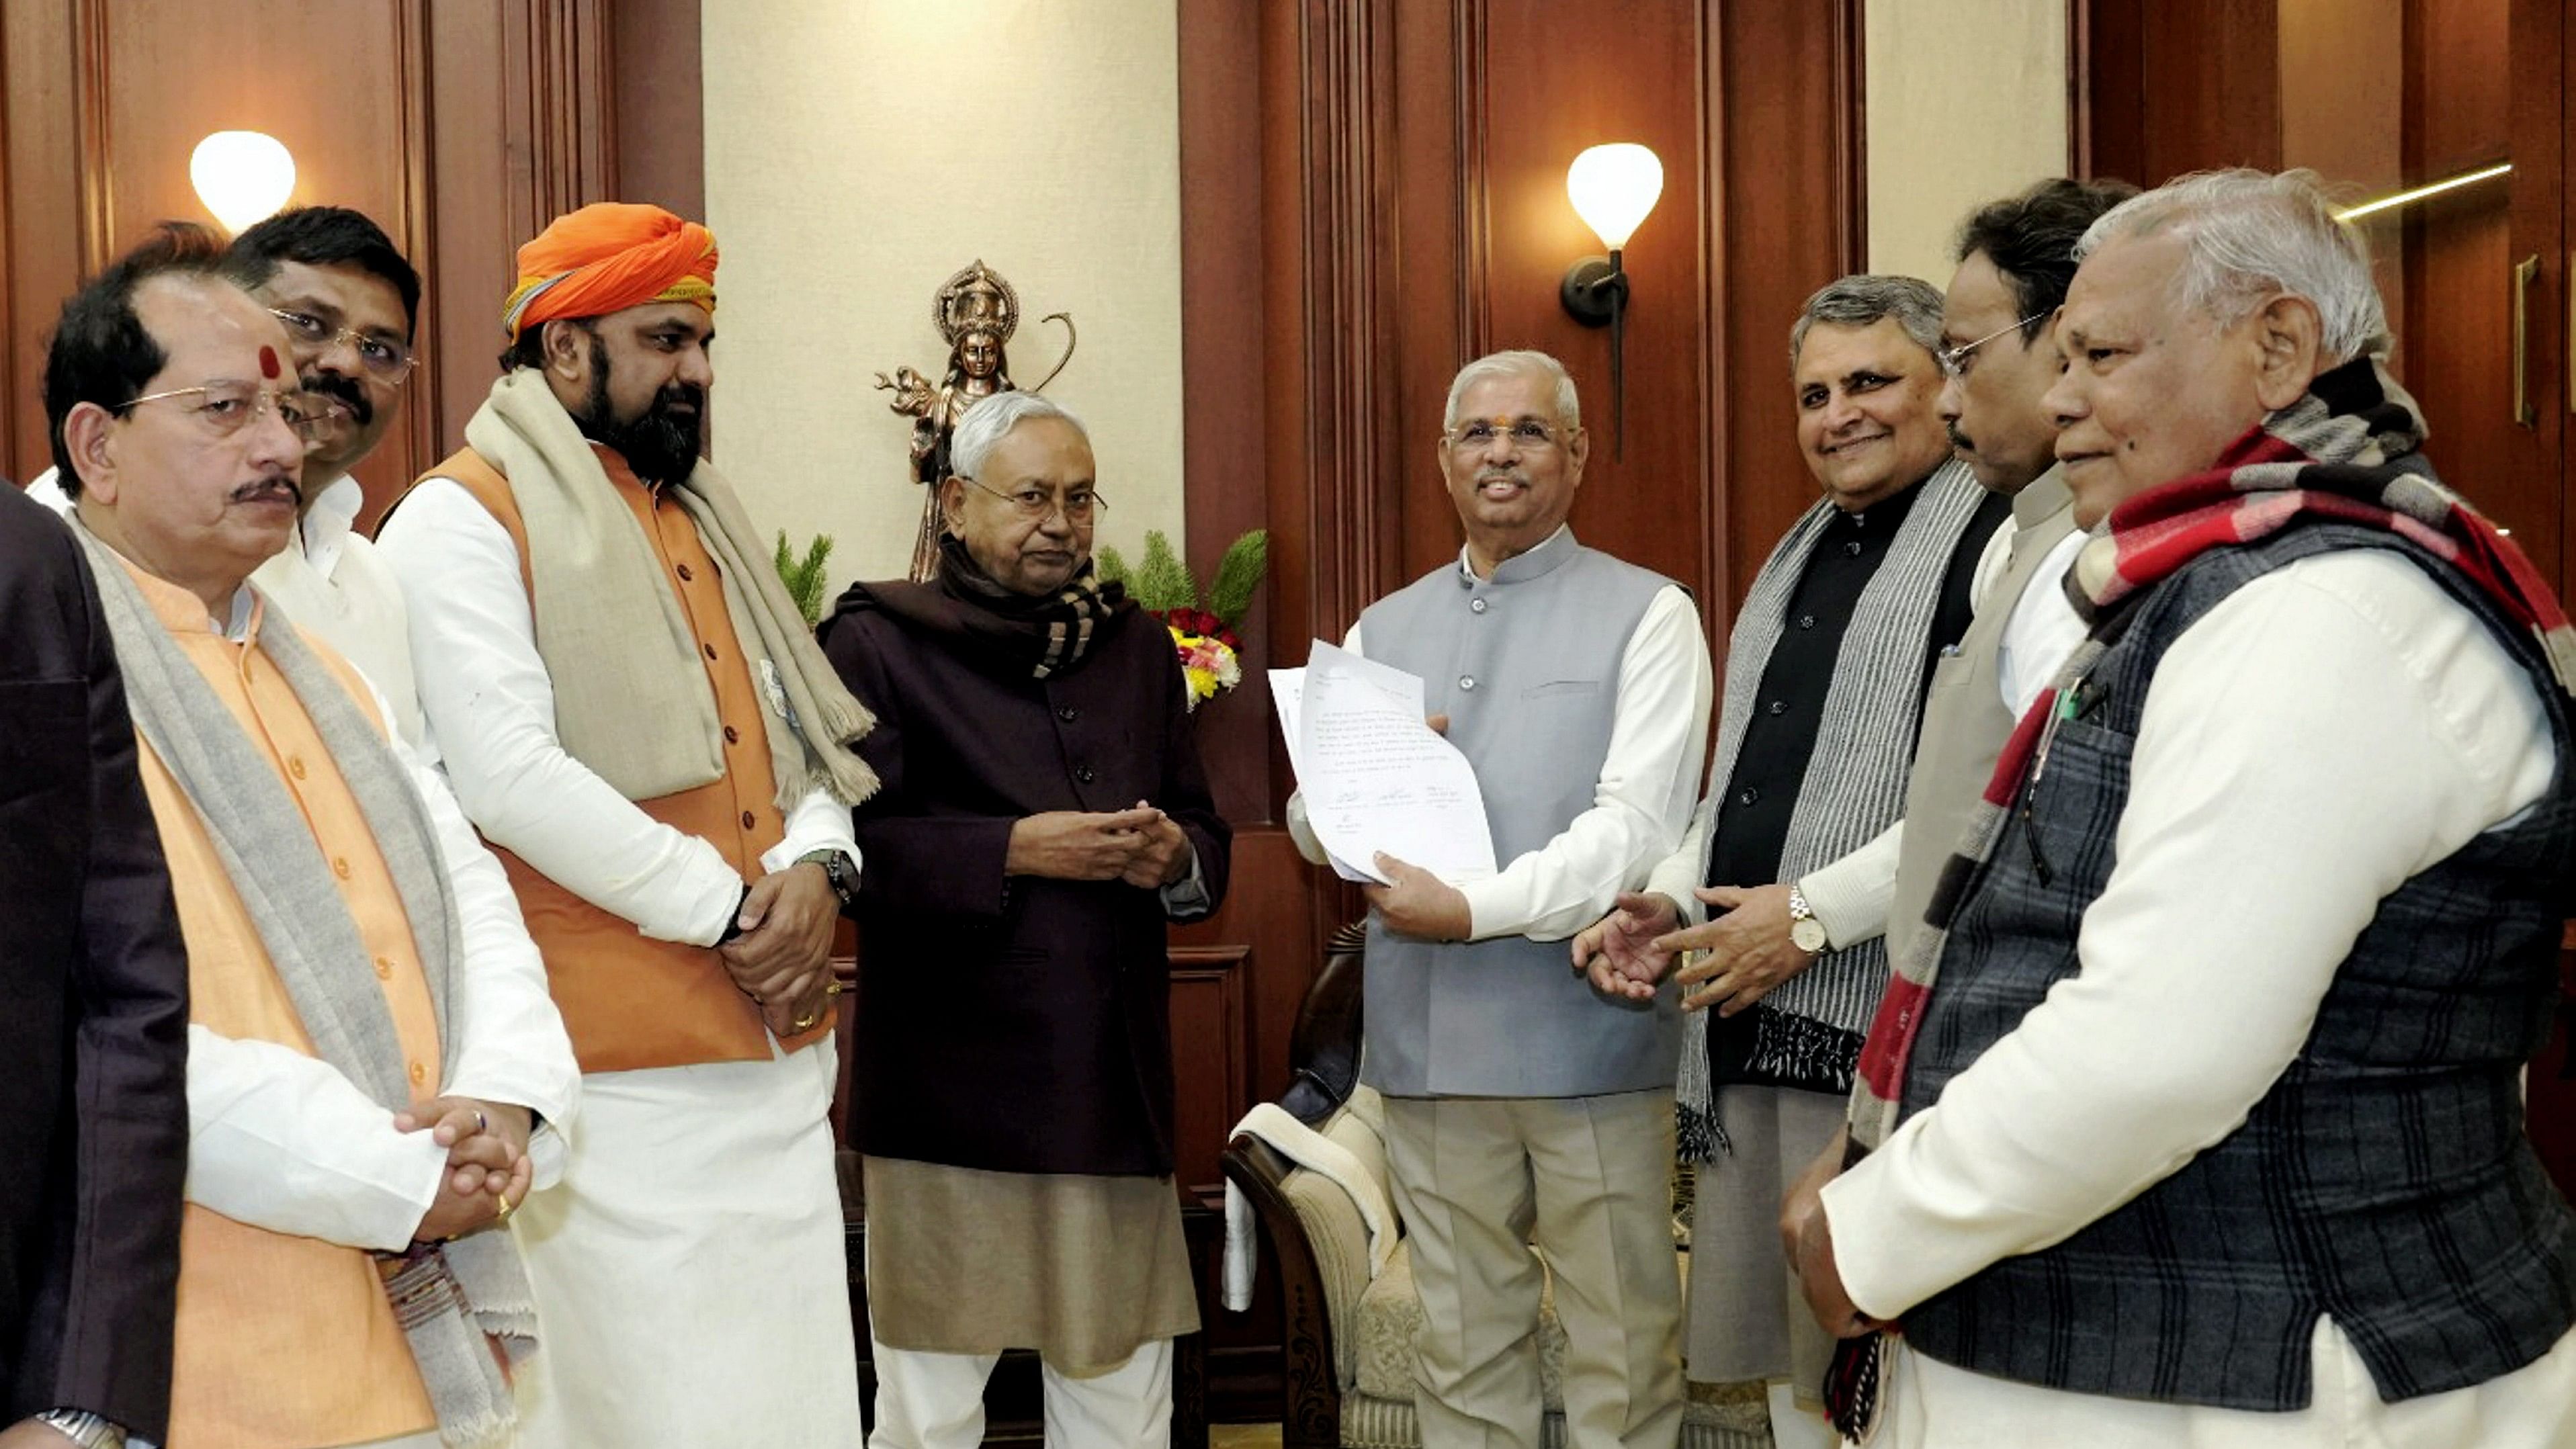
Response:
[[[173,229],[64,304],[44,409],[188,960],[167,1444],[505,1434],[533,1297],[489,1228],[562,1171],[580,1076],[500,865],[247,584],[337,404]]]

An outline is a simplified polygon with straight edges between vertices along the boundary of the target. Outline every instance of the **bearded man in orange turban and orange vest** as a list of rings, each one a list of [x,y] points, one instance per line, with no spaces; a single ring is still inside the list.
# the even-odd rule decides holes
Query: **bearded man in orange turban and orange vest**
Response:
[[[502,378],[379,546],[585,1073],[518,1215],[528,1441],[858,1444],[827,955],[868,715],[698,458],[716,239],[600,203],[518,270]]]

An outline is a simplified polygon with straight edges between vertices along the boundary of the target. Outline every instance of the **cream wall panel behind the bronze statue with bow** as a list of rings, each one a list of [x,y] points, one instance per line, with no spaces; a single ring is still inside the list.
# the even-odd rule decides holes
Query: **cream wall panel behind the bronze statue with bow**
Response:
[[[837,540],[832,587],[899,577],[922,494],[878,371],[948,363],[933,293],[1020,291],[1023,386],[1092,432],[1128,558],[1182,535],[1180,54],[1172,0],[721,0],[703,10],[716,440],[762,530]]]

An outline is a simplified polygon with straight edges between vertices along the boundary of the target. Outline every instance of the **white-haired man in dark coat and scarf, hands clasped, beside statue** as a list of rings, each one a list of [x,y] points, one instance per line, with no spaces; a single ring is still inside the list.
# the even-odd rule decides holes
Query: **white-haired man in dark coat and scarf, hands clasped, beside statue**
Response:
[[[1231,831],[1162,620],[1092,569],[1092,443],[1033,391],[958,420],[930,582],[853,584],[824,654],[860,754],[850,1138],[868,1186],[873,1449],[974,1449],[1005,1349],[1046,1441],[1172,1439],[1198,1331],[1172,1186],[1167,927]]]

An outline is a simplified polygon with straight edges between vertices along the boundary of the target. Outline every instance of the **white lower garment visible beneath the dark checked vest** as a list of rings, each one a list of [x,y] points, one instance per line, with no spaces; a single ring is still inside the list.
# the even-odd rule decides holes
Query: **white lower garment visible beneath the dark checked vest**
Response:
[[[2383,1403],[2352,1341],[2316,1320],[2308,1408],[2254,1413],[2020,1385],[1927,1359],[1896,1341],[1873,1444],[1888,1449],[2571,1449],[2576,1333],[2476,1387]]]

